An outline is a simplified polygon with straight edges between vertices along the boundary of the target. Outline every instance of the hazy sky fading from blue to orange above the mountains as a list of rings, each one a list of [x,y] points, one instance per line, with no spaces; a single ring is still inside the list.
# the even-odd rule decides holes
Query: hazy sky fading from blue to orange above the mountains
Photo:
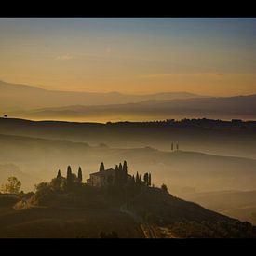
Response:
[[[256,93],[256,19],[0,19],[0,80],[48,89]]]

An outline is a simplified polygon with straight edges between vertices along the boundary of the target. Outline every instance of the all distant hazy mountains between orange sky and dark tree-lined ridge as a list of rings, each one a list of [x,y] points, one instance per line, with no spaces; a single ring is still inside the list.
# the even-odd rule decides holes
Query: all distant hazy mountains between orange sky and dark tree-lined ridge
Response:
[[[53,91],[0,81],[2,115],[34,120],[139,121],[208,117],[256,119],[256,95],[205,97],[187,92],[128,95]]]

